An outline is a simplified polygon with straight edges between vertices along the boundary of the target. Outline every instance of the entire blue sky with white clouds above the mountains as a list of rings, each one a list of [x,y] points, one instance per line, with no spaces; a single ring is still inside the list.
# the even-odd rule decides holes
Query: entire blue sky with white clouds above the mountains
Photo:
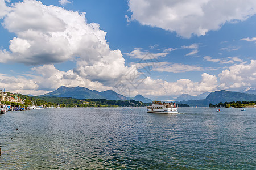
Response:
[[[256,87],[255,0],[0,0],[0,90],[175,99]]]

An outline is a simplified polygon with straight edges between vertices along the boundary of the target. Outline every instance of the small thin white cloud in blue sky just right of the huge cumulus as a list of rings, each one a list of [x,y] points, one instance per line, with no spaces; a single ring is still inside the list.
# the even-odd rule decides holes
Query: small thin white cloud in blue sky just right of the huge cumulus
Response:
[[[138,59],[157,59],[158,57],[166,57],[169,53],[150,53],[150,52],[142,52],[142,48],[134,48],[134,50],[130,53],[125,53],[127,56],[138,58]]]

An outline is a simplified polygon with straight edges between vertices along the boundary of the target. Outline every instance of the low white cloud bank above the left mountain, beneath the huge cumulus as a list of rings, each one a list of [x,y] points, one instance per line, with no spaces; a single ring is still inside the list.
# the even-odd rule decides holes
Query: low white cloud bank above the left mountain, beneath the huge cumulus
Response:
[[[72,70],[67,72],[57,70],[53,65],[34,67],[31,70],[32,74],[19,76],[0,74],[0,87],[9,92],[32,95],[43,95],[60,86],[81,86],[99,91],[112,88],[97,81],[81,78]]]

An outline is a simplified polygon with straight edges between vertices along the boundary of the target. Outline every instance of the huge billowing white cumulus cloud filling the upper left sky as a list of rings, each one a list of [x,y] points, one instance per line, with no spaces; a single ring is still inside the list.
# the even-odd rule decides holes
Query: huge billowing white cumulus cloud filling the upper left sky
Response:
[[[10,8],[3,26],[16,37],[10,40],[9,50],[0,50],[0,62],[51,65],[75,60],[77,75],[102,82],[118,79],[129,70],[120,50],[109,48],[106,32],[97,23],[87,23],[85,13],[33,0]]]

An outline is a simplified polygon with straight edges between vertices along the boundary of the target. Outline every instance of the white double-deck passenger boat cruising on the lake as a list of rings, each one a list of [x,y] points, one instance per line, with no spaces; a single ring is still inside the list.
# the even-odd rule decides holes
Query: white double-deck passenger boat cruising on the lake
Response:
[[[152,106],[147,107],[148,113],[178,113],[175,100],[153,101]]]

